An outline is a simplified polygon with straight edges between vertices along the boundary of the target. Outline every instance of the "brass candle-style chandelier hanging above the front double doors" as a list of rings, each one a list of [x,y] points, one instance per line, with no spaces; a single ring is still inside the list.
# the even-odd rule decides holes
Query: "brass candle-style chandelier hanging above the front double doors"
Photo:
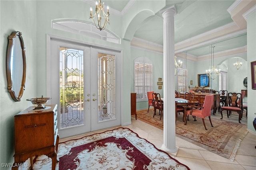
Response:
[[[107,14],[104,11],[104,2],[101,3],[101,0],[99,2],[96,1],[96,8],[95,8],[95,14],[92,15],[92,7],[90,8],[90,18],[93,20],[94,25],[101,30],[104,30],[106,28],[107,23],[109,24],[109,12],[108,12],[108,6],[107,6]],[[95,22],[94,17],[97,16],[97,21]],[[103,25],[103,26],[102,26]]]

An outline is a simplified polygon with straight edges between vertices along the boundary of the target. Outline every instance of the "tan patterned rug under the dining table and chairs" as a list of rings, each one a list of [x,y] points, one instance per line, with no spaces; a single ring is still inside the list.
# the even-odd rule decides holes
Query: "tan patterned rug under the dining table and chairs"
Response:
[[[147,111],[148,109],[137,111],[137,119],[163,130],[163,120],[159,119],[158,112],[153,118],[153,109]],[[248,133],[246,125],[211,116],[214,127],[211,127],[210,121],[206,117],[204,119],[208,129],[206,131],[201,118],[198,117],[197,121],[194,121],[191,116],[187,125],[184,125],[182,117],[183,113],[177,117],[177,137],[234,161],[239,145]]]

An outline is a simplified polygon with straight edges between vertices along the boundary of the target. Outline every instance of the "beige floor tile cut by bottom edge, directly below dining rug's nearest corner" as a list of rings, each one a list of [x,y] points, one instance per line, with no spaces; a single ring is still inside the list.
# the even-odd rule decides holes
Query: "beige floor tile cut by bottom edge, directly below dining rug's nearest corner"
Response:
[[[244,170],[239,164],[228,164],[223,162],[206,161],[211,170]]]

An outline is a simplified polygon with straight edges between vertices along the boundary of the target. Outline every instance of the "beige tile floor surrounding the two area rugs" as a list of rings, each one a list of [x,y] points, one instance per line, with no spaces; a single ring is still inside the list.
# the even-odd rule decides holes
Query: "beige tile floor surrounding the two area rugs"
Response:
[[[230,118],[223,115],[223,119],[237,122],[238,116],[235,114],[236,113],[234,113]],[[216,115],[212,115],[211,117],[221,116],[217,112]],[[242,118],[241,122],[247,124],[247,119]],[[158,149],[162,146],[163,131],[161,129],[140,120],[135,120],[133,117],[132,124],[123,127],[127,127],[135,133],[138,133],[140,137],[147,139]],[[108,129],[113,129],[113,127]],[[100,131],[106,131],[108,129],[102,129]],[[92,133],[96,132],[91,132],[91,134]],[[88,133],[86,135],[88,135]],[[61,141],[66,140],[67,139],[62,139]],[[179,148],[178,154],[177,156],[172,157],[179,162],[186,164],[191,170],[256,170],[256,135],[250,132],[241,142],[234,162],[202,147],[198,147],[188,141],[180,139],[179,137],[176,137],[176,146]]]

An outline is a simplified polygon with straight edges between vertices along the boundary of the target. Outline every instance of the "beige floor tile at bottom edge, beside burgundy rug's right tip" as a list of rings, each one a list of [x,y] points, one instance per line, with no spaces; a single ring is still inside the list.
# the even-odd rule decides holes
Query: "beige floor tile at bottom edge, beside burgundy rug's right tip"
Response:
[[[184,158],[179,156],[176,156],[175,159],[188,166],[190,170],[211,170],[210,166],[205,160]]]

